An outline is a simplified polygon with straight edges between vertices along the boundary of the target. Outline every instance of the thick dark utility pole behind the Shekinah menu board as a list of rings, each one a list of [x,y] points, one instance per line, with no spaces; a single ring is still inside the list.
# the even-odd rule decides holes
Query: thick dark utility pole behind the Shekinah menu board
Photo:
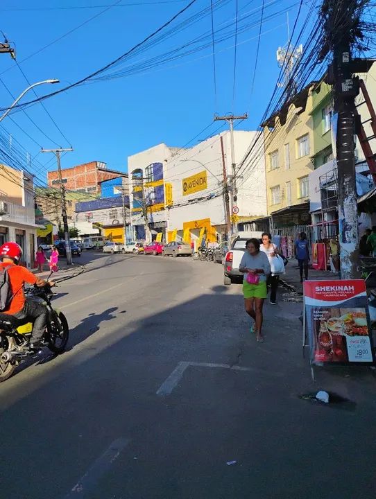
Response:
[[[352,26],[357,24],[360,2],[325,0],[321,8],[326,33],[325,51],[332,51],[333,62],[327,82],[332,85],[334,112],[337,113],[336,163],[338,169],[338,212],[341,279],[357,279],[359,272],[359,229],[355,176],[355,97],[359,78],[354,78]],[[325,51],[322,55],[325,54]]]

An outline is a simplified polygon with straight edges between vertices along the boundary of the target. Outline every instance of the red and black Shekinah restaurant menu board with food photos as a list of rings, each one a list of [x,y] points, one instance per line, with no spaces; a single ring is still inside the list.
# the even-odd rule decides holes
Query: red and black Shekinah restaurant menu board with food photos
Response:
[[[305,281],[304,295],[311,363],[373,364],[366,283]]]

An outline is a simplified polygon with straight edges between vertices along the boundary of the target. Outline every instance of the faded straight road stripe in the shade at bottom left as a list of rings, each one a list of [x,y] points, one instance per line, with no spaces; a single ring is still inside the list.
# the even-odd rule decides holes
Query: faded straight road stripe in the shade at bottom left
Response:
[[[101,476],[109,471],[112,463],[119,457],[121,451],[129,442],[130,440],[123,438],[114,440],[105,453],[96,459],[85,475],[83,475],[73,489],[67,493],[65,499],[83,498],[86,497],[87,493],[90,491],[94,491]]]

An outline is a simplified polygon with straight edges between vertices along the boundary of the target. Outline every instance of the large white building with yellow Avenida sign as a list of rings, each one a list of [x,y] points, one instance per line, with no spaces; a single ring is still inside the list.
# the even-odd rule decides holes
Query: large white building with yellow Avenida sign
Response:
[[[236,170],[257,132],[234,131]],[[223,189],[223,140],[225,173],[231,185],[230,132],[223,132],[166,161],[164,182],[171,186],[171,209],[167,209],[167,229],[184,240],[197,240],[205,234],[215,242],[226,233],[225,193]],[[252,166],[250,167],[250,164]],[[238,221],[266,216],[264,155],[252,153],[237,171]]]

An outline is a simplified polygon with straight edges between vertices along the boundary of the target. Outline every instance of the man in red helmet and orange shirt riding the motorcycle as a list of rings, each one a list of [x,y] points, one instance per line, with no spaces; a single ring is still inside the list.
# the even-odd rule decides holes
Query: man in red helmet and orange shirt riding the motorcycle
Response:
[[[17,243],[4,243],[0,246],[0,268],[8,272],[11,298],[10,303],[2,313],[14,315],[17,319],[24,320],[26,317],[33,322],[33,334],[31,335],[29,348],[31,350],[39,349],[43,346],[42,339],[46,331],[48,311],[46,307],[36,301],[26,299],[24,285],[35,284],[42,288],[49,284],[54,286],[53,281],[44,281],[36,277],[33,272],[25,267],[19,266],[19,260],[22,257],[22,247]]]

